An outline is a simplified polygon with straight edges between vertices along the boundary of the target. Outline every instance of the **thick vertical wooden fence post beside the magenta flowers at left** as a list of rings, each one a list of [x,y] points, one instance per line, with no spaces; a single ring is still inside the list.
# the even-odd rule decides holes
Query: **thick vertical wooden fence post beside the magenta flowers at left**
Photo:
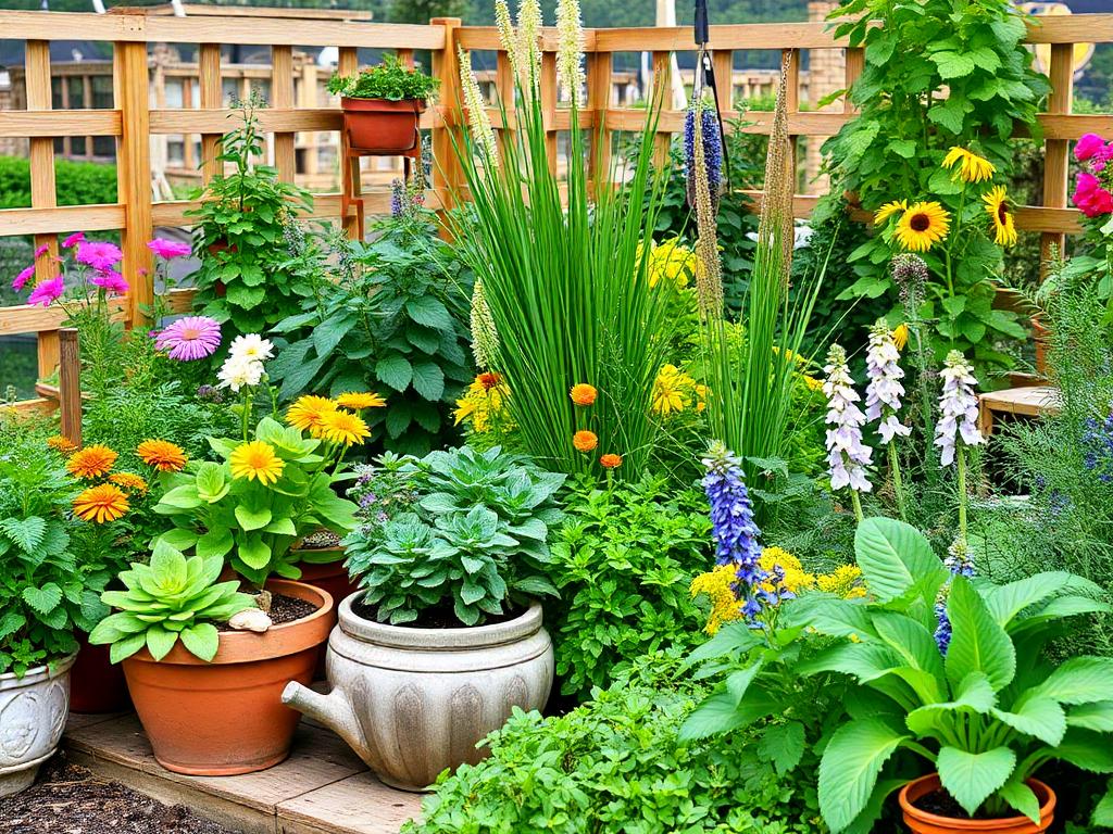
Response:
[[[124,277],[128,292],[129,325],[149,319],[155,301],[154,262],[147,242],[154,237],[151,220],[150,92],[147,44],[120,42],[115,47],[116,107],[122,133],[117,142],[116,175],[124,205]]]

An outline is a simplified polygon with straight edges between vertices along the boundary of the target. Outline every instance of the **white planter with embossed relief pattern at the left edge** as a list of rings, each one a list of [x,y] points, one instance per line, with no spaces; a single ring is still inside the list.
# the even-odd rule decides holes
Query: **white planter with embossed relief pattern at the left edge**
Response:
[[[69,671],[77,655],[0,675],[0,796],[35,782],[39,765],[58,749],[69,714]]]

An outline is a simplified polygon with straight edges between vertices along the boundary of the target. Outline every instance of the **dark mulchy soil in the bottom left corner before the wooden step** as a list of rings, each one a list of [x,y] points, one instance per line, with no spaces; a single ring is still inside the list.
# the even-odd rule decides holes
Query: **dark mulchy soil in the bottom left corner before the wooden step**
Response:
[[[65,754],[39,782],[0,800],[0,834],[236,834],[185,805],[164,805],[119,782],[69,764]]]

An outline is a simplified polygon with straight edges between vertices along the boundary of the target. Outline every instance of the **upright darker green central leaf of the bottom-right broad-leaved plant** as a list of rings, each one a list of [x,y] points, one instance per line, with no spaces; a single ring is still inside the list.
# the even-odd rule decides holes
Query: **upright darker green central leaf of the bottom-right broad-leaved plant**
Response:
[[[952,686],[958,686],[972,672],[984,673],[996,692],[1008,686],[1016,674],[1016,649],[964,576],[956,576],[951,584],[947,616],[952,636],[944,665]]]

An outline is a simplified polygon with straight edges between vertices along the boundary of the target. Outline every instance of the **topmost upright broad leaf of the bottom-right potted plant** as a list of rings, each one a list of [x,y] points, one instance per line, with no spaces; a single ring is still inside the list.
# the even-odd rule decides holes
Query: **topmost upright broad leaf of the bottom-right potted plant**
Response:
[[[947,575],[924,535],[893,518],[867,518],[859,524],[854,552],[869,592],[880,603],[913,589],[934,597]]]

